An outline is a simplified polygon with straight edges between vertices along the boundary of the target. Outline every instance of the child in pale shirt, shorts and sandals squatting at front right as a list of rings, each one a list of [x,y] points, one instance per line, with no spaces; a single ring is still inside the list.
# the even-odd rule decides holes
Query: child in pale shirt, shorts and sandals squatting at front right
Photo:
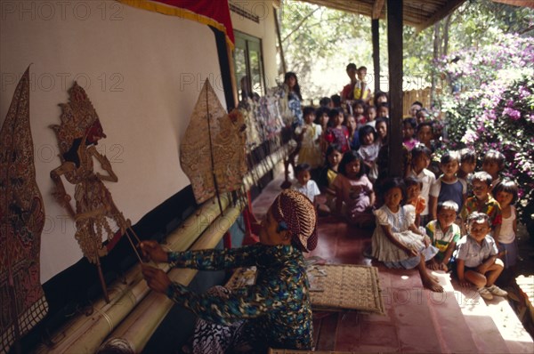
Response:
[[[460,286],[476,286],[483,299],[508,293],[494,283],[504,268],[498,259],[495,240],[490,236],[490,217],[474,212],[467,218],[467,235],[457,246],[457,277]]]

